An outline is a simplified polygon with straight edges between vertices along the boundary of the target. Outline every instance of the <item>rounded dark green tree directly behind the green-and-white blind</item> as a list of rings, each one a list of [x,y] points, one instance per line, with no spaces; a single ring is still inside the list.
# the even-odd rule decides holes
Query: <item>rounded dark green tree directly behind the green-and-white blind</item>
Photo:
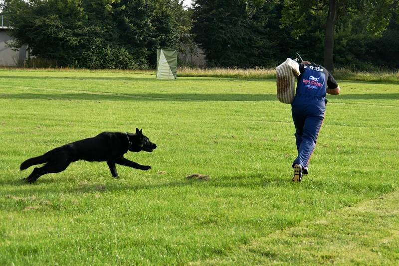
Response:
[[[191,28],[179,0],[121,0],[113,6],[120,8],[113,15],[120,42],[151,66],[156,65],[158,48],[178,48]]]

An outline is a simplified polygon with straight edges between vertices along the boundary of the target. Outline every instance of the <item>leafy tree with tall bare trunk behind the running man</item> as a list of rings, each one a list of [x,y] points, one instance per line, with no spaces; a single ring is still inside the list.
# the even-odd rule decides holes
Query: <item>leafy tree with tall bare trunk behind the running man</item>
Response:
[[[390,18],[398,13],[398,0],[284,0],[282,13],[282,25],[290,26],[292,36],[296,38],[309,32],[309,21],[324,17],[324,66],[332,71],[336,23],[339,18],[362,17],[368,32],[381,35]]]

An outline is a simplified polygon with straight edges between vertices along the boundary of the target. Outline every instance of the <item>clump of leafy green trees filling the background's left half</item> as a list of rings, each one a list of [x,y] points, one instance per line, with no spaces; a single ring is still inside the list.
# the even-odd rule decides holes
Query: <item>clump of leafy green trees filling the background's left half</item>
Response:
[[[188,31],[178,0],[4,0],[15,48],[58,66],[155,65],[157,48],[174,48]],[[190,23],[188,23],[190,26]]]

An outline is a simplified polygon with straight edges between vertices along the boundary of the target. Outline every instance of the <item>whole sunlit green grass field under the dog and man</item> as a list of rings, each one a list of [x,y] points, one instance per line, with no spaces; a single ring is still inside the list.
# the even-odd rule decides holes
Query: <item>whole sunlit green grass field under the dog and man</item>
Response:
[[[0,265],[395,264],[399,84],[338,82],[298,184],[273,79],[0,70]],[[126,157],[150,171],[21,181],[26,158],[136,128],[158,148]]]

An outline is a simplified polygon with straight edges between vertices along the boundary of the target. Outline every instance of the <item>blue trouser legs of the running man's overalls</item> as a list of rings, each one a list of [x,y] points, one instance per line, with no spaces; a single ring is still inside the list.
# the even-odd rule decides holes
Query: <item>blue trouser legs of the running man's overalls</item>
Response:
[[[316,146],[317,136],[324,120],[327,100],[322,97],[295,97],[291,104],[292,119],[295,125],[296,147],[298,157],[292,167],[299,163],[302,167],[309,164],[310,157]]]

